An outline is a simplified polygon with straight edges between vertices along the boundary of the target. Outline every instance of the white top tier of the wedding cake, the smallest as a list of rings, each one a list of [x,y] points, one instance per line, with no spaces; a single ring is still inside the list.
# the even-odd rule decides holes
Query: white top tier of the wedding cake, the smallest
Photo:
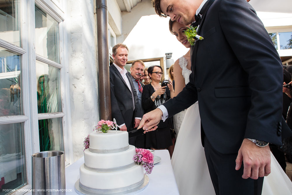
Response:
[[[107,133],[93,132],[89,135],[89,149],[112,150],[128,147],[128,132],[109,130]]]

